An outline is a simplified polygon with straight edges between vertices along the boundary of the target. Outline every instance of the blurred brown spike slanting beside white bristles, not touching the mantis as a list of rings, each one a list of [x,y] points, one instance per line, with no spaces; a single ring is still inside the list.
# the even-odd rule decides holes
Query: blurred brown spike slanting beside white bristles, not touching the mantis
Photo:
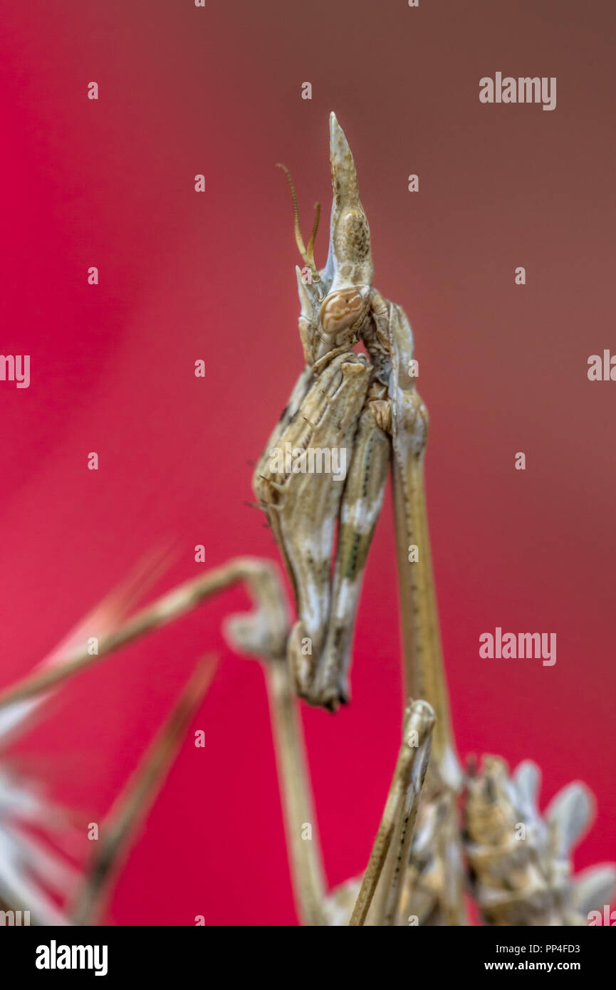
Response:
[[[74,925],[93,925],[105,903],[111,881],[130,848],[166,776],[192,716],[210,686],[217,660],[207,657],[195,668],[154,743],[101,825],[101,836],[88,879],[73,913]]]

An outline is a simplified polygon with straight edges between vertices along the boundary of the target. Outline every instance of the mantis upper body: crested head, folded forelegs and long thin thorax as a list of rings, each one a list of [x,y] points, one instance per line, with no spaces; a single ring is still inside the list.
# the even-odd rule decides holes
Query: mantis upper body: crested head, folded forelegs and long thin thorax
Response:
[[[461,772],[449,728],[426,516],[428,412],[416,388],[410,324],[401,307],[372,285],[370,233],[355,161],[334,113],[330,163],[333,202],[322,269],[314,260],[320,206],[305,247],[287,171],[295,238],[305,262],[295,271],[306,363],[253,479],[297,606],[287,643],[289,668],[298,695],[311,705],[334,712],[349,701],[361,580],[391,466],[407,694],[437,713],[433,767],[456,788]],[[359,344],[365,353],[354,349]],[[346,449],[344,483],[332,473],[281,470],[276,451],[289,447],[294,453]]]

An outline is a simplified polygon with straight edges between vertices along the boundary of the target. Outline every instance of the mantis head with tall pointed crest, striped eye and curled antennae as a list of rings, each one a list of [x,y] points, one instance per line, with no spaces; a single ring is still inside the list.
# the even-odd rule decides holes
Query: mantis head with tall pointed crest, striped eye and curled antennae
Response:
[[[374,267],[370,232],[359,200],[358,174],[349,143],[336,119],[330,115],[330,163],[332,168],[332,215],[330,245],[325,267],[314,260],[314,242],[321,207],[315,206],[315,223],[308,246],[299,229],[297,199],[288,170],[284,168],[293,198],[295,240],[305,266],[296,266],[301,305],[299,332],[309,364],[338,348],[353,347],[370,302]]]

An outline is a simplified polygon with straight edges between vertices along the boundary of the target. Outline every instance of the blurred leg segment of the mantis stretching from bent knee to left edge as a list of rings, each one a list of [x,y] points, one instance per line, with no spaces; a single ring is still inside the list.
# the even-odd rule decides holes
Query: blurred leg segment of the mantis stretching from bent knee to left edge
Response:
[[[100,640],[98,653],[92,655],[88,652],[87,646],[84,645],[74,654],[67,656],[66,659],[58,661],[53,666],[37,670],[12,685],[3,694],[0,694],[0,709],[26,698],[35,697],[43,691],[55,687],[84,667],[94,666],[115,650],[128,646],[142,636],[179,619],[217,592],[239,581],[246,580],[249,583],[255,583],[258,576],[268,570],[274,572],[277,580],[275,568],[268,561],[257,560],[253,557],[238,557],[221,567],[208,571],[202,577],[185,581],[177,588],[162,595],[152,605],[142,609],[115,632]],[[96,631],[93,630],[92,635],[95,633]]]

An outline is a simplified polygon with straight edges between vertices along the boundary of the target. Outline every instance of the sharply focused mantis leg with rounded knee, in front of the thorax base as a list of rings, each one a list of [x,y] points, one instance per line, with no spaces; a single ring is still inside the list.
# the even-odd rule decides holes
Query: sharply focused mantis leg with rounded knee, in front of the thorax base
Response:
[[[386,863],[387,873],[390,875],[382,875],[383,898],[377,914],[391,913],[393,916],[397,911],[401,879],[408,862],[408,850],[413,838],[421,787],[428,764],[430,735],[434,721],[434,711],[426,702],[416,701],[410,704],[385,808],[359,888],[350,925],[359,926],[365,923]],[[417,745],[409,745],[411,731],[417,732]],[[397,847],[393,846],[393,853],[389,857],[388,853],[396,830],[398,844]],[[406,859],[404,859],[405,850]],[[382,922],[377,920],[376,924]]]

